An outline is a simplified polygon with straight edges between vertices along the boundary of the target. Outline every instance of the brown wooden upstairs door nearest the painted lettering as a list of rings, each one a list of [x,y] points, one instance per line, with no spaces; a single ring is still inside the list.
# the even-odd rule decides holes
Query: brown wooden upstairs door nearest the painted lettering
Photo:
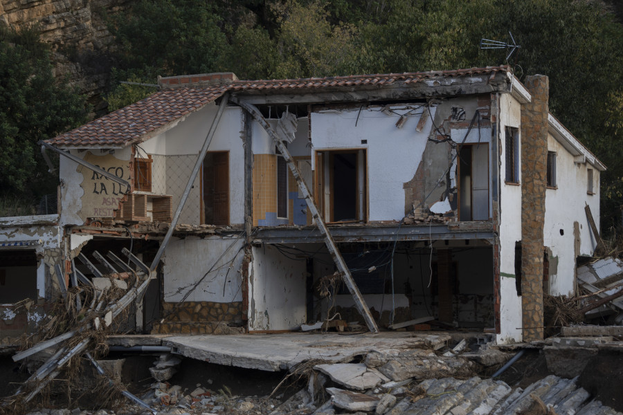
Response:
[[[229,153],[206,154],[203,165],[204,223],[229,225]]]

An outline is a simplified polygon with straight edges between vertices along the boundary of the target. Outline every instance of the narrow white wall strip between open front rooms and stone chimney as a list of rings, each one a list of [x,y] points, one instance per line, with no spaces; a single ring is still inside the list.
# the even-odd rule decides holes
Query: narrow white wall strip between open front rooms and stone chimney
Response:
[[[515,286],[515,242],[521,241],[521,180],[519,185],[505,183],[505,127],[515,127],[520,134],[519,166],[521,166],[521,104],[510,94],[498,94],[500,104],[500,329],[498,343],[521,341],[521,297]],[[521,167],[520,167],[521,172]]]

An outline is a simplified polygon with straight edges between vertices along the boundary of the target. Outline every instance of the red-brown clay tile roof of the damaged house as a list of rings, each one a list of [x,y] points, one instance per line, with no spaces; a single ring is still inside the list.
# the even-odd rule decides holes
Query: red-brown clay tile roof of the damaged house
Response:
[[[126,147],[133,142],[146,140],[166,131],[188,114],[205,107],[226,91],[252,93],[258,91],[307,91],[318,89],[343,89],[357,87],[388,86],[391,84],[415,84],[435,77],[482,75],[509,71],[509,66],[456,69],[452,71],[428,71],[412,73],[389,73],[377,75],[348,75],[317,77],[296,80],[233,80],[227,84],[192,84],[195,75],[161,78],[170,84],[144,100],[118,109],[101,118],[61,134],[46,142],[60,147]],[[174,81],[174,82],[172,82]],[[175,84],[176,86],[173,86]]]

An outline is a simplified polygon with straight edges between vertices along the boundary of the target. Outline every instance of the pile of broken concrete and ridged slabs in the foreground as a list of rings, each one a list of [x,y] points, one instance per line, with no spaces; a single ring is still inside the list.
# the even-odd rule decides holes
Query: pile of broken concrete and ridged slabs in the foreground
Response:
[[[621,414],[579,387],[577,376],[550,375],[524,389],[474,375],[510,356],[490,344],[469,347],[466,340],[437,351],[384,349],[367,353],[361,362],[303,362],[291,370],[306,375],[292,376],[298,387],[276,389],[282,394],[275,397],[235,396],[228,387],[213,391],[201,384],[192,389],[157,381],[141,396],[151,410],[129,403],[116,412],[54,409],[29,415]]]

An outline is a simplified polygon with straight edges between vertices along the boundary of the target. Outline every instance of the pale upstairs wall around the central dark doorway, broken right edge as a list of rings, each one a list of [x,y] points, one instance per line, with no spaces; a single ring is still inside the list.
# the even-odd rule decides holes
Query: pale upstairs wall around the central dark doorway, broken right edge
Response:
[[[405,105],[408,104],[399,107]],[[404,126],[397,128],[399,116],[388,116],[380,109],[362,109],[361,113],[359,109],[311,113],[311,142],[315,151],[367,149],[370,221],[399,221],[404,216],[403,185],[413,178],[422,161],[432,121],[428,117],[422,131],[415,131],[420,112],[415,111],[418,115],[409,116]],[[431,109],[433,117],[435,110]],[[361,140],[368,142],[362,144]],[[316,169],[314,158],[311,163]]]

